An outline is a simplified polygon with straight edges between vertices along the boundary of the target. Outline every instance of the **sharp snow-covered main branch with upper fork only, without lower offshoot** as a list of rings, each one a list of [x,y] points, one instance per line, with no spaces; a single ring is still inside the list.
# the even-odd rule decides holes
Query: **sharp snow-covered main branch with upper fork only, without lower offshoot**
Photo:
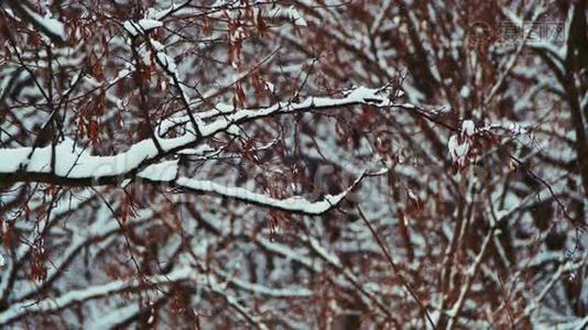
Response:
[[[143,140],[111,156],[95,156],[70,139],[45,147],[0,148],[0,183],[45,182],[58,185],[111,185],[132,178],[139,170],[157,164],[162,158],[194,147],[206,138],[227,132],[237,124],[261,118],[305,111],[327,111],[353,105],[406,107],[392,103],[388,92],[364,87],[355,88],[342,98],[311,97],[302,102],[280,102],[268,108],[241,109],[215,118],[202,127],[202,135],[187,130],[177,138],[157,138],[161,151],[153,140]],[[164,179],[153,178],[151,179]]]

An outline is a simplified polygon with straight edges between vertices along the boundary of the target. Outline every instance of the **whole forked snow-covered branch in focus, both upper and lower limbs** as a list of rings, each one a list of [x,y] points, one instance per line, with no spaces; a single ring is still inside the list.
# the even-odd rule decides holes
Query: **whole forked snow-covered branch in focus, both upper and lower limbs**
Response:
[[[0,148],[0,183],[44,182],[57,185],[91,186],[118,185],[128,179],[141,179],[152,184],[166,184],[188,191],[205,193],[244,202],[304,215],[322,215],[337,206],[362,179],[361,175],[350,187],[338,195],[326,195],[323,200],[308,201],[300,197],[275,199],[239,187],[227,187],[209,180],[177,177],[177,162],[165,157],[181,154],[202,140],[230,131],[237,124],[282,113],[325,111],[352,105],[393,107],[388,91],[358,87],[345,92],[342,98],[311,97],[302,102],[280,102],[261,109],[241,109],[213,119],[200,128],[200,134],[165,139],[143,140],[128,151],[112,156],[95,156],[65,141],[46,147]],[[401,107],[406,108],[406,105]],[[410,107],[409,107],[410,108]],[[410,108],[412,109],[412,108]]]

